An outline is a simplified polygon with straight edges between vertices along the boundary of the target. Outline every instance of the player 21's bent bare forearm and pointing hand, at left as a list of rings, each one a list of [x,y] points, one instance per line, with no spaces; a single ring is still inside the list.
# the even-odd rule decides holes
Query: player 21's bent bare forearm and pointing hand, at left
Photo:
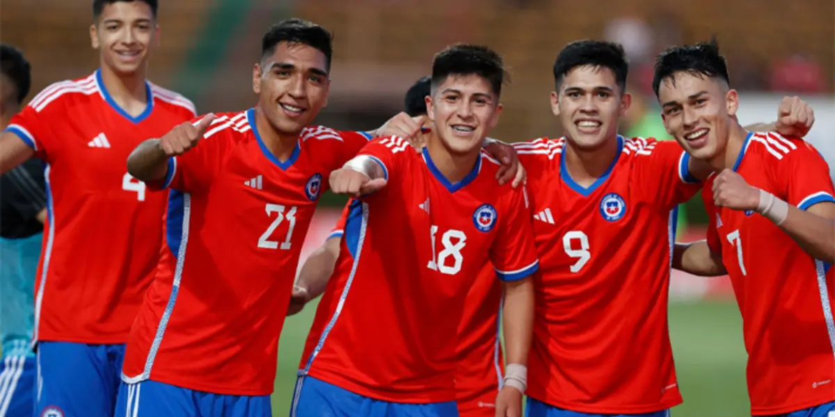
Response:
[[[128,157],[128,173],[145,183],[162,180],[168,172],[168,158],[197,146],[214,119],[209,113],[197,123],[181,123],[162,138],[139,143]]]

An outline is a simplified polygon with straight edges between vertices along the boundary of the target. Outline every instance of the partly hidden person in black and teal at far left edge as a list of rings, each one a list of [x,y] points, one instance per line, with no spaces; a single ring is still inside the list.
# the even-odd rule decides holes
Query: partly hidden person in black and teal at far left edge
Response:
[[[17,48],[0,45],[0,123],[23,106],[32,84]],[[0,415],[34,413],[37,369],[32,350],[35,271],[46,219],[43,163],[31,158],[0,176]]]

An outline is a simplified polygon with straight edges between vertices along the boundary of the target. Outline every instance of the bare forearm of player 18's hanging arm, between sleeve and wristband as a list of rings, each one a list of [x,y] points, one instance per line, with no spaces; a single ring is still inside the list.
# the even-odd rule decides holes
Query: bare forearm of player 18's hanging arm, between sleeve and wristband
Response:
[[[534,332],[534,280],[531,277],[504,283],[503,316],[506,362],[525,365]]]

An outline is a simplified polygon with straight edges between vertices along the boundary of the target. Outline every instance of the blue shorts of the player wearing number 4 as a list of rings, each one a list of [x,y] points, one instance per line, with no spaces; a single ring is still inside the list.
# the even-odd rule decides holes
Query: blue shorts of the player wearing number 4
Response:
[[[124,344],[39,342],[35,411],[112,417],[123,359]]]

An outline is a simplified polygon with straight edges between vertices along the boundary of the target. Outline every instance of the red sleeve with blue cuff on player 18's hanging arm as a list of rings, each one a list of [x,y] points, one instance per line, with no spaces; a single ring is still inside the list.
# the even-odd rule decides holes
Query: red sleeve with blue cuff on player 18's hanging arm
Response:
[[[539,269],[527,189],[519,187],[498,218],[498,234],[490,248],[490,261],[498,279],[524,279]]]

